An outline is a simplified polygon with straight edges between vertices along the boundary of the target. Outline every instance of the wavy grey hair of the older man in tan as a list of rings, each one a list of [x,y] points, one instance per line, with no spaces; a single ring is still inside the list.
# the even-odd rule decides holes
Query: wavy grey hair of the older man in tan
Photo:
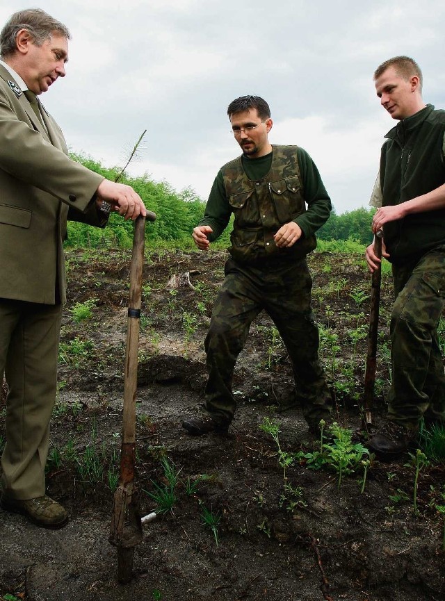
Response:
[[[67,40],[71,39],[68,28],[57,19],[54,19],[41,8],[29,8],[19,10],[10,17],[0,33],[0,56],[10,56],[17,50],[17,33],[21,29],[29,31],[36,46],[42,46],[51,38],[53,33],[63,35]]]

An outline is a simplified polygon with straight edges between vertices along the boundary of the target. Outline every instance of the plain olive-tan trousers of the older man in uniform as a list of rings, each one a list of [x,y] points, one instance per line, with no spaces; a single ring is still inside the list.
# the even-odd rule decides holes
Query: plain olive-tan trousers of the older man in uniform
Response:
[[[61,313],[60,304],[0,299],[0,374],[9,386],[1,484],[20,500],[45,494]]]

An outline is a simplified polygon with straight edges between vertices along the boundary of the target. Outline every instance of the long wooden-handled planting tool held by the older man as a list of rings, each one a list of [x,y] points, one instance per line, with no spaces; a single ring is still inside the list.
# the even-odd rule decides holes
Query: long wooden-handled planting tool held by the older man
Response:
[[[146,218],[154,221],[156,215],[151,211],[147,211]],[[136,458],[136,387],[138,384],[138,343],[144,242],[145,217],[138,217],[134,223],[133,255],[130,270],[120,479],[114,496],[109,538],[110,543],[118,550],[118,581],[122,584],[131,581],[134,548],[141,543],[143,537],[134,464]]]

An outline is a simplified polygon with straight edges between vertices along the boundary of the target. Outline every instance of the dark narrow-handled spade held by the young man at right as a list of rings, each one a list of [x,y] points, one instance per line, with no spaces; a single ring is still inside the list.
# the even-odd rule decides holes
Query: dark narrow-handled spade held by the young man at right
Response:
[[[375,256],[382,259],[382,236],[380,230],[374,236]],[[362,428],[369,431],[372,426],[371,410],[374,401],[375,368],[377,365],[377,334],[378,334],[378,312],[380,305],[380,283],[382,281],[382,267],[379,263],[378,269],[373,272],[371,283],[371,312],[369,314],[368,352],[366,354],[366,370],[364,374],[364,415]]]

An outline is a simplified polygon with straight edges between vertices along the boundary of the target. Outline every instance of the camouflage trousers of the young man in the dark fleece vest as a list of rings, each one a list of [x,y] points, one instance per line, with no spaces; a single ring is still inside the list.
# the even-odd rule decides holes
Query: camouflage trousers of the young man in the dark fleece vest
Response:
[[[393,265],[392,384],[388,417],[406,427],[445,419],[445,375],[437,328],[445,304],[445,246]]]

